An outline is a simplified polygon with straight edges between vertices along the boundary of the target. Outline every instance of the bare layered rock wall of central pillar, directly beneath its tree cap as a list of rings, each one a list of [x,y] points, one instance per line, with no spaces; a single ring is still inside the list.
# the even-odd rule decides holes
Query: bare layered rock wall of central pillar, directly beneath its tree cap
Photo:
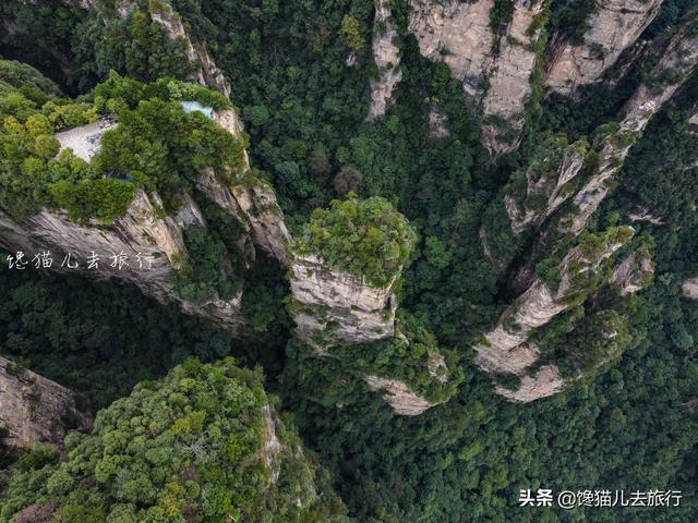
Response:
[[[313,255],[291,259],[291,307],[299,338],[317,350],[333,342],[365,343],[394,336],[396,299],[393,285],[382,288],[362,278],[332,270]]]

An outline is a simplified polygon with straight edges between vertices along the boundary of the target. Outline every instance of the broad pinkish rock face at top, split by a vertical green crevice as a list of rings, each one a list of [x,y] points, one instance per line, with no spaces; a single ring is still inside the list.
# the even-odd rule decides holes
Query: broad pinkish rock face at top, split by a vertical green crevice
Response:
[[[533,22],[544,2],[517,0],[512,21],[497,35],[490,19],[494,0],[410,3],[409,31],[417,37],[420,52],[447,63],[465,92],[482,104],[484,145],[494,154],[514,149],[532,93],[534,42],[540,37]]]

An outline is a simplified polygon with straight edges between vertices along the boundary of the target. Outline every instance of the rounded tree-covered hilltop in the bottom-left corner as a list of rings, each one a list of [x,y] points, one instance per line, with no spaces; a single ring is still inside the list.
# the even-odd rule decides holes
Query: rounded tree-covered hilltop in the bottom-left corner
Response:
[[[280,423],[281,448],[265,448],[262,373],[233,363],[189,360],[101,411],[89,434],[71,434],[63,461],[24,457],[0,521],[25,508],[26,521],[48,513],[65,523],[340,521],[341,503],[318,498]]]

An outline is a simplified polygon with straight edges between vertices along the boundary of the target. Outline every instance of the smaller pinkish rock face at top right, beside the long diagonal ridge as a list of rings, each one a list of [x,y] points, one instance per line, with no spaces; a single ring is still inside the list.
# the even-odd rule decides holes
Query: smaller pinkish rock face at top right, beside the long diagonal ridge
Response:
[[[580,85],[599,80],[621,53],[637,40],[657,15],[662,0],[606,0],[595,2],[583,44],[555,38],[544,84],[569,95]]]

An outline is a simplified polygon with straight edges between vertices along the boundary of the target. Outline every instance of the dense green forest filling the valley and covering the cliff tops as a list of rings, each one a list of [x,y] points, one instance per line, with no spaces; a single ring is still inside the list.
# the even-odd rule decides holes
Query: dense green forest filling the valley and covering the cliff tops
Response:
[[[113,8],[112,2],[97,3],[100,16]],[[63,507],[60,521],[71,522],[182,521],[167,514],[186,518],[189,510],[197,519],[183,521],[222,521],[215,518],[233,512],[249,521],[342,521],[344,504],[354,521],[366,523],[696,521],[698,302],[682,293],[683,281],[698,270],[698,131],[688,123],[698,100],[696,74],[630,149],[615,190],[588,226],[590,234],[601,234],[628,224],[628,214],[651,209],[659,222],[633,222],[635,235],[625,247],[651,254],[651,283],[627,300],[602,285],[591,293],[587,285],[574,308],[537,332],[546,361],[562,360],[564,352],[564,373],[571,376],[581,367],[593,372],[554,397],[516,404],[494,392],[492,379],[473,364],[472,349],[516,294],[482,250],[482,226],[507,232],[493,243],[507,264],[521,264],[522,253],[531,250],[531,240],[513,242],[506,212],[498,199],[493,202],[524,186],[527,168],[550,150],[575,144],[588,153],[594,130],[612,121],[647,78],[690,1],[663,3],[643,33],[648,45],[642,59],[622,81],[582,87],[574,101],[558,95],[542,100],[540,112],[531,111],[519,148],[496,161],[481,145],[479,115],[464,102],[462,84],[444,63],[420,54],[407,31],[406,0],[390,2],[402,80],[387,114],[374,123],[364,121],[370,81],[377,74],[371,57],[373,2],[172,0],[231,83],[249,144],[232,141],[201,114],[185,114],[173,101],[204,96],[206,105],[227,104],[207,89],[178,92],[176,87],[194,88],[180,82],[191,73],[182,68],[189,62],[181,41],[165,38],[151,20],[148,2],[134,3],[140,10],[108,23],[53,0],[39,9],[14,1],[0,8],[0,16],[27,27],[16,40],[2,35],[0,58],[26,62],[46,75],[19,62],[0,66],[0,206],[20,216],[36,205],[53,205],[69,212],[72,208],[76,220],[99,217],[108,222],[123,214],[132,197],[128,187],[125,195],[119,190],[137,182],[164,194],[168,209],[174,209],[178,196],[192,188],[196,167],[214,163],[225,179],[226,168],[239,167],[244,145],[255,175],[276,191],[296,238],[291,251],[326,248],[323,254],[335,267],[364,275],[376,287],[406,265],[395,291],[398,325],[409,343],[396,338],[313,357],[293,336],[287,316],[285,269],[264,256],[251,269],[241,269],[234,247],[239,231],[205,198],[201,207],[214,226],[188,232],[195,259],[180,275],[179,290],[195,302],[212,290],[229,296],[242,289],[242,312],[252,326],[242,338],[116,281],[19,273],[3,264],[0,352],[83,392],[89,400],[85,406],[100,413],[89,434],[71,436],[68,458],[39,449],[9,469],[14,477],[0,478],[0,518],[11,521],[20,508],[56,502]],[[495,3],[506,4],[501,10],[506,17],[512,4]],[[547,31],[580,41],[593,3],[553,1]],[[27,33],[35,35],[32,46],[26,45]],[[358,57],[353,66],[346,64],[350,52]],[[70,158],[50,159],[57,148],[51,134],[94,121],[109,102],[110,111],[120,111],[121,124],[107,136],[95,173],[117,169],[134,180],[110,182],[119,185],[105,187],[116,202],[109,200],[107,209],[91,208],[85,204],[89,196],[73,194],[75,175],[98,183],[106,179],[86,173],[84,166],[77,166],[83,169],[79,173],[71,171],[76,162]],[[447,137],[430,132],[433,106],[448,122]],[[198,133],[213,137],[205,150]],[[152,139],[139,139],[144,135]],[[28,174],[28,187],[13,183],[19,170]],[[50,179],[40,178],[48,173]],[[61,179],[70,182],[63,190]],[[101,196],[96,200],[105,203]],[[395,228],[401,234],[390,235]],[[230,253],[224,271],[214,269],[221,252]],[[376,266],[377,252],[388,253],[389,266]],[[553,260],[537,262],[539,276],[554,280]],[[613,346],[599,344],[600,325],[619,333]],[[565,352],[569,346],[576,351],[571,357]],[[420,391],[436,402],[450,400],[419,416],[396,415],[380,394],[369,392],[357,372],[381,368],[392,377],[419,380],[417,364],[396,369],[392,358],[411,364],[436,350],[446,354],[454,379],[436,387],[424,380]],[[601,365],[602,353],[613,353],[612,361]],[[213,363],[227,356],[241,367],[263,370]],[[347,372],[350,365],[352,372]],[[183,384],[185,378],[190,381]],[[328,494],[320,507],[311,504],[315,512],[296,513],[288,499],[272,496],[269,504],[256,504],[261,473],[245,461],[250,448],[243,442],[216,448],[229,454],[218,463],[237,469],[202,473],[201,483],[184,481],[184,465],[156,470],[157,459],[164,459],[159,451],[174,462],[173,454],[191,442],[192,433],[176,443],[153,439],[148,450],[132,449],[131,460],[141,451],[154,458],[147,462],[149,471],[135,471],[137,478],[127,477],[136,469],[129,463],[119,465],[123,477],[100,478],[106,474],[103,462],[117,453],[112,445],[118,438],[111,433],[130,437],[121,431],[137,431],[134,418],[145,426],[144,417],[168,414],[155,409],[158,399],[179,401],[172,396],[179,388],[203,387],[207,380],[220,396],[205,405],[205,419],[224,425],[242,419],[232,427],[234,434],[250,434],[249,426],[258,430],[263,386],[278,397],[275,409],[284,413],[289,433],[298,430],[323,470],[318,481]],[[226,387],[242,394],[241,403],[221,401]],[[237,410],[227,416],[225,409]],[[164,423],[178,422],[170,416]],[[168,430],[173,429],[168,425],[158,438],[170,437]],[[215,470],[212,462],[201,466]],[[315,474],[297,465],[298,474]],[[151,473],[152,478],[142,477]],[[249,476],[256,478],[249,482],[252,487]],[[151,482],[148,488],[136,479]],[[288,490],[276,494],[297,491],[297,479],[278,486]],[[538,488],[674,489],[683,499],[671,509],[517,507],[521,489]],[[208,503],[201,495],[206,489],[227,494]],[[183,507],[183,497],[201,502]],[[157,514],[146,518],[151,510]]]

